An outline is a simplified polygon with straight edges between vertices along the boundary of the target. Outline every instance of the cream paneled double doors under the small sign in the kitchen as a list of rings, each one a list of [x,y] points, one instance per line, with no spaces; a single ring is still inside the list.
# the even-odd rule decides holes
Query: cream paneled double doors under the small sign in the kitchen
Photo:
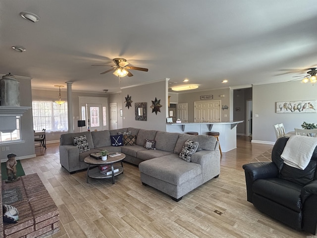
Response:
[[[194,102],[195,122],[216,122],[220,121],[220,100]]]

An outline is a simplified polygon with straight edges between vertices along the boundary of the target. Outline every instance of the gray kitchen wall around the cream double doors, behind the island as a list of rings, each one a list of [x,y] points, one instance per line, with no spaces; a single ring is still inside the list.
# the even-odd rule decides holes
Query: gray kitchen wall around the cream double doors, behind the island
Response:
[[[203,95],[213,95],[213,99],[211,100],[221,100],[221,108],[222,106],[227,105],[228,109],[221,109],[221,121],[229,121],[230,114],[230,89],[218,89],[218,90],[209,90],[209,91],[201,91],[201,92],[193,92],[193,93],[180,93],[178,95],[178,103],[188,103],[188,122],[194,122],[194,102],[199,101],[207,101],[200,100],[200,96]],[[220,97],[220,95],[224,95],[224,97]],[[227,117],[224,117],[227,115]]]

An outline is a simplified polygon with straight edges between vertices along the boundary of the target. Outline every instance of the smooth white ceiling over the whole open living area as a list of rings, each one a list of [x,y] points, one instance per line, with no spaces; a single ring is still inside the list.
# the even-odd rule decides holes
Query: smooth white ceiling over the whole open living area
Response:
[[[0,0],[0,73],[109,92],[170,78],[197,90],[289,81],[317,65],[316,0]],[[32,23],[19,13],[37,14]],[[23,53],[11,46],[26,48]],[[100,74],[122,57],[133,77]],[[227,79],[227,84],[221,83]],[[176,83],[175,83],[176,82]],[[300,83],[300,82],[299,82]],[[66,88],[66,87],[65,87]]]

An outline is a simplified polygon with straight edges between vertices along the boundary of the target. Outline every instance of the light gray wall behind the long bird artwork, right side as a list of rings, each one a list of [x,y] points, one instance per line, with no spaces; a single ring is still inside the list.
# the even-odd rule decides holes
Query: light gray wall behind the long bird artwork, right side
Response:
[[[316,123],[317,113],[275,113],[276,102],[316,100],[317,85],[300,81],[253,86],[252,141],[276,141],[273,124],[283,123],[286,132],[301,128],[303,121]],[[255,115],[259,117],[255,117]]]

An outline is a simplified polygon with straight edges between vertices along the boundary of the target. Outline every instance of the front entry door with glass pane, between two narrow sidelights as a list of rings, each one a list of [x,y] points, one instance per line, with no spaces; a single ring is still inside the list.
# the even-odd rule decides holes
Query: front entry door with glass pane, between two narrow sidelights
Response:
[[[90,131],[103,129],[101,104],[87,104],[87,125]]]

